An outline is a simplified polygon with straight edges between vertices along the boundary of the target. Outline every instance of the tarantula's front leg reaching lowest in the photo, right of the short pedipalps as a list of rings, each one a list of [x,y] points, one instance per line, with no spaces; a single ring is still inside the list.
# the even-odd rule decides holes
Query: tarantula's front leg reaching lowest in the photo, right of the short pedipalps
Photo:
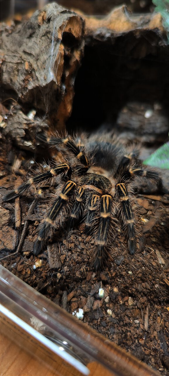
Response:
[[[104,194],[101,197],[100,205],[100,220],[98,227],[98,236],[96,238],[97,253],[94,261],[94,267],[97,269],[102,268],[106,264],[106,244],[108,243],[108,233],[111,223],[111,206],[112,197],[109,194]]]

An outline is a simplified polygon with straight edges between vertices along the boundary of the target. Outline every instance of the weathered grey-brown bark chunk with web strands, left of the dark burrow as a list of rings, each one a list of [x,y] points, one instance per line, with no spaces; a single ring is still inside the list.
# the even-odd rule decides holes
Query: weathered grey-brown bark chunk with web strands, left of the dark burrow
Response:
[[[12,27],[2,26],[1,82],[22,106],[50,112],[63,124],[83,54],[84,21],[56,3]]]

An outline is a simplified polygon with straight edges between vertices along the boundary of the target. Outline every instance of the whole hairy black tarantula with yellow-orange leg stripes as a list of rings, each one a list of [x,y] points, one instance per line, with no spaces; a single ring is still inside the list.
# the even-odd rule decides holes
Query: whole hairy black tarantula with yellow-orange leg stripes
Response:
[[[85,232],[93,233],[96,251],[94,267],[102,268],[108,260],[108,249],[119,218],[128,240],[129,253],[136,250],[135,219],[131,206],[135,177],[154,179],[159,188],[162,180],[157,171],[142,166],[137,160],[138,150],[127,150],[117,139],[103,135],[84,138],[59,136],[57,133],[43,139],[49,146],[62,150],[67,159],[55,163],[37,176],[30,177],[16,190],[6,194],[4,201],[13,200],[30,190],[42,187],[53,180],[57,183],[52,205],[41,224],[34,243],[33,253],[42,250],[49,229],[62,217],[63,225],[75,226],[84,221]],[[67,209],[67,210],[66,210]]]

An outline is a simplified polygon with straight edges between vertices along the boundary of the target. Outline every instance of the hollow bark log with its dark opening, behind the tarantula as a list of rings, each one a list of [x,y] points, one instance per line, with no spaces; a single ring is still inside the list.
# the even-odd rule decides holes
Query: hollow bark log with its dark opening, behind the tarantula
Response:
[[[143,103],[138,136],[145,103],[162,104],[157,137],[161,132],[160,142],[165,138],[168,46],[159,13],[132,15],[120,6],[100,19],[50,3],[31,17],[2,24],[1,38],[2,101],[15,101],[3,119],[3,134],[19,147],[34,150],[38,131],[48,126],[61,132],[68,119],[73,130],[116,121],[123,131],[133,121],[130,111],[122,116],[123,108],[134,102]],[[36,117],[30,119],[33,108]],[[152,121],[146,119],[145,137]]]

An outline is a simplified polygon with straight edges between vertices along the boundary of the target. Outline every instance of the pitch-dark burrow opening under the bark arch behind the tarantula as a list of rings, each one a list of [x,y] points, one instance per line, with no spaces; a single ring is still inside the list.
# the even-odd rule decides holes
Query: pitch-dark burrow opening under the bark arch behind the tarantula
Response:
[[[121,111],[127,106],[130,116],[135,117],[142,107],[143,112],[152,109],[153,115],[163,117],[157,130],[163,142],[168,134],[168,78],[168,46],[161,46],[153,32],[144,32],[139,39],[131,32],[115,41],[112,36],[106,42],[91,40],[85,45],[76,74],[67,130],[91,132],[103,124],[119,131],[129,129],[133,127],[127,119],[129,113],[126,111],[125,124],[125,116],[119,121]],[[139,120],[136,116],[135,122]],[[145,133],[156,132],[156,124],[152,123],[155,121]],[[142,132],[145,124],[137,125]]]

